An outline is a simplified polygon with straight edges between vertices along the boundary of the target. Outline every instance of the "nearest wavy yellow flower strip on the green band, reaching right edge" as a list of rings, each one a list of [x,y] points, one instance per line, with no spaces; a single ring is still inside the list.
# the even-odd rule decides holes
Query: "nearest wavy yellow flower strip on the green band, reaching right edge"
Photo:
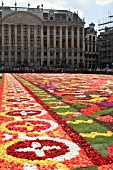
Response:
[[[95,138],[96,136],[107,136],[110,137],[113,135],[111,131],[107,131],[107,133],[102,133],[102,132],[91,132],[91,133],[80,133],[82,137],[87,137],[87,138]]]

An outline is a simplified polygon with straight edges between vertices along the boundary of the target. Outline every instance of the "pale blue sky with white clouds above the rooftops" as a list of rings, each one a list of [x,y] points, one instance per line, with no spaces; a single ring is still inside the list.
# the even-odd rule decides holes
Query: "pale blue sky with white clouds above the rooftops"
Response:
[[[2,2],[2,1],[1,1]],[[4,6],[14,6],[15,1],[3,0]],[[85,18],[85,27],[91,22],[95,24],[98,31],[104,26],[99,27],[98,23],[109,21],[109,15],[113,15],[113,0],[18,0],[17,6],[27,7],[28,2],[31,8],[43,4],[44,9],[66,9],[77,12],[81,19]],[[111,18],[113,20],[113,18]],[[111,26],[111,25],[110,25]]]

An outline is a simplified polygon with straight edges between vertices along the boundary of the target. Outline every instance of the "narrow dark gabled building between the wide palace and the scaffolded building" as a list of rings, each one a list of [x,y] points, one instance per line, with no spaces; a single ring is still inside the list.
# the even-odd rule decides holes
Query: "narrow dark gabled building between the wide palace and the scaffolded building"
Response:
[[[99,51],[98,51],[98,37],[95,31],[95,24],[89,24],[85,28],[85,54],[84,66],[85,68],[97,68],[99,66]]]

